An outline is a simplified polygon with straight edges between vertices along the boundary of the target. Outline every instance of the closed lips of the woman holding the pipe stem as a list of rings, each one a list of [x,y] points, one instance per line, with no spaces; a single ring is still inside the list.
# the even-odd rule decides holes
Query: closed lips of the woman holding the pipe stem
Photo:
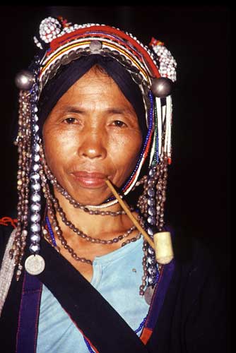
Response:
[[[104,186],[105,179],[107,179],[107,175],[100,172],[78,171],[72,172],[71,174],[81,186],[91,189]]]

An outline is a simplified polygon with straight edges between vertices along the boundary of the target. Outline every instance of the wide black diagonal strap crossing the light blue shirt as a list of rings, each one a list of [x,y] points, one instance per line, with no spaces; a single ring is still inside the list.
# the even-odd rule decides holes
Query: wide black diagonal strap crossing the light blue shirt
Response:
[[[42,239],[45,270],[37,277],[54,294],[75,325],[102,353],[148,352],[139,337],[102,295]]]

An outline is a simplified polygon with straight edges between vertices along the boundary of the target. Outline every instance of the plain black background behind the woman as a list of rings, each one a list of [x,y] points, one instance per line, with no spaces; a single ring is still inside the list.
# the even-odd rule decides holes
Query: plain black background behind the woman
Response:
[[[148,44],[165,43],[177,61],[173,162],[166,218],[228,261],[230,244],[230,8],[228,6],[0,6],[0,217],[16,205],[16,147],[10,136],[16,73],[33,58],[40,21],[104,23]]]

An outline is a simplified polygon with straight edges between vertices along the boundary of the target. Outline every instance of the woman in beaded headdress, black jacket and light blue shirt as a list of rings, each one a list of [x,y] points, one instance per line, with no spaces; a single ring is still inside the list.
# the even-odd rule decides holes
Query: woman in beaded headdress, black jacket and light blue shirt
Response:
[[[148,48],[117,28],[63,18],[42,20],[35,43],[40,54],[16,78],[4,352],[223,352],[213,263],[178,234],[173,259],[164,221],[175,59],[157,40]]]

